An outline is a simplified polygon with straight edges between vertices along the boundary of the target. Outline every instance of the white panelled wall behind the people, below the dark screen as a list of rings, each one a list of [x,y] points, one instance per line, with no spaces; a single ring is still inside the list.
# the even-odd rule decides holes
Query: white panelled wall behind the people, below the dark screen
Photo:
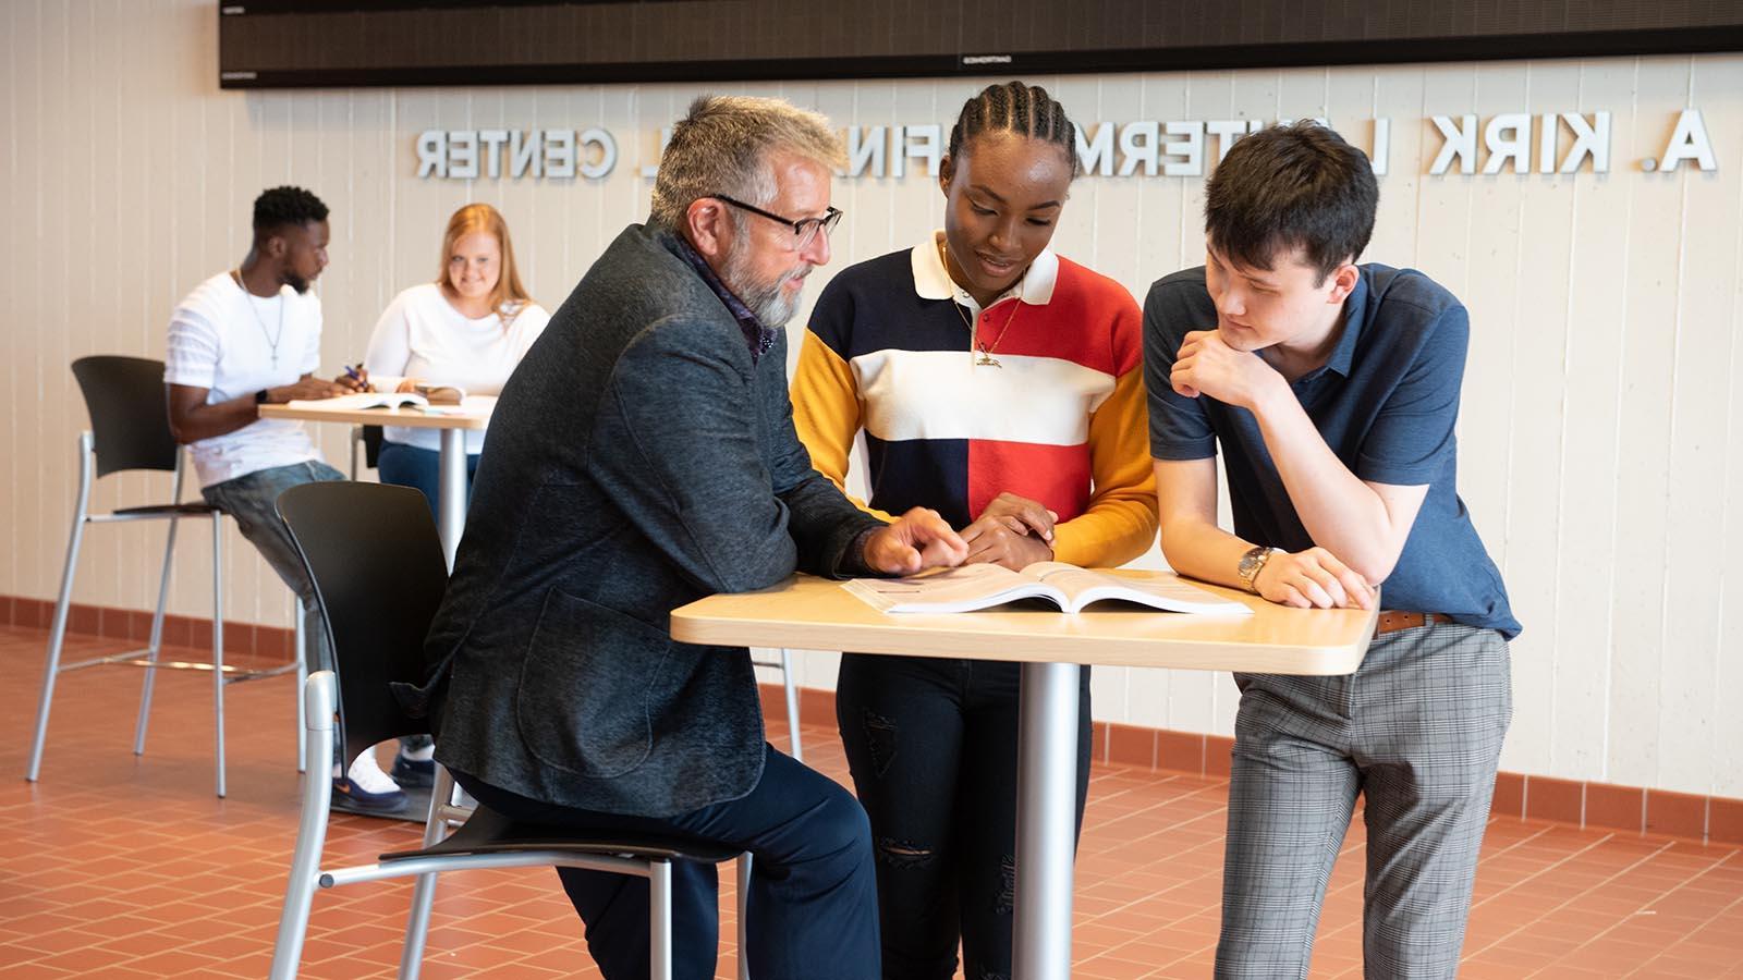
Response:
[[[533,293],[556,307],[594,255],[647,208],[640,167],[701,89],[359,89],[221,92],[216,12],[199,0],[12,0],[0,5],[0,230],[10,548],[0,595],[52,598],[84,408],[66,364],[89,352],[160,357],[171,307],[248,248],[249,202],[300,183],[333,208],[319,282],[324,361],[363,354],[399,288],[434,276],[444,218],[483,199],[509,218]],[[1461,480],[1525,635],[1506,769],[1743,797],[1743,56],[1285,71],[1072,75],[1049,85],[1088,124],[1328,117],[1368,145],[1393,120],[1391,173],[1370,258],[1424,269],[1473,314]],[[741,85],[842,126],[953,119],[981,80]],[[1645,173],[1675,113],[1698,106],[1717,173]],[[1428,174],[1428,117],[1614,113],[1612,167],[1593,174]],[[601,126],[605,180],[424,181],[427,127]],[[1563,145],[1565,145],[1563,136]],[[1199,178],[1084,178],[1060,251],[1142,296],[1201,260]],[[837,183],[847,211],[833,269],[906,248],[939,221],[924,174]],[[795,331],[798,328],[795,326]],[[797,347],[795,347],[797,350]],[[343,432],[321,431],[329,459]],[[99,485],[138,500],[150,481]],[[78,598],[146,607],[159,530],[103,528]],[[232,532],[234,534],[234,532]],[[207,614],[206,548],[190,534],[174,610]],[[230,614],[288,624],[286,591],[230,542]],[[833,684],[807,654],[802,682]],[[1229,732],[1225,677],[1100,670],[1096,717]],[[1727,710],[1729,708],[1729,710]]]

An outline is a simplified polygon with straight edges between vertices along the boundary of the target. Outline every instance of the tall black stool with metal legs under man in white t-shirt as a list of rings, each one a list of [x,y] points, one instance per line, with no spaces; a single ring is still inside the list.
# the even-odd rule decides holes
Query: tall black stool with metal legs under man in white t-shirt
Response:
[[[183,453],[169,432],[169,408],[164,399],[164,363],[145,357],[94,356],[73,361],[73,377],[85,396],[91,429],[78,434],[78,500],[73,506],[73,534],[66,544],[66,567],[61,572],[61,595],[54,605],[49,626],[49,656],[42,677],[42,699],[37,704],[37,729],[30,743],[30,764],[24,778],[37,781],[42,771],[42,750],[49,734],[49,708],[54,703],[54,682],[70,670],[98,664],[131,664],[146,668],[145,687],[139,692],[139,720],[134,727],[132,752],[145,753],[145,729],[152,713],[152,687],[159,670],[206,670],[213,675],[213,704],[216,711],[216,766],[218,795],[225,795],[223,766],[223,691],[239,680],[277,677],[296,671],[298,677],[298,729],[302,729],[300,698],[307,675],[303,659],[303,617],[296,616],[296,661],[267,670],[242,670],[223,663],[223,513],[207,504],[181,502]],[[108,514],[91,513],[91,483],[94,478],[125,471],[174,473],[167,504],[120,507]],[[164,638],[164,602],[169,598],[169,563],[176,549],[176,523],[181,518],[211,518],[213,527],[213,659],[211,663],[160,661]],[[167,520],[169,535],[164,541],[164,572],[157,582],[157,610],[152,614],[152,635],[143,650],[127,650],[105,657],[91,657],[70,664],[61,663],[66,640],[66,614],[73,598],[73,574],[78,568],[78,548],[85,525]],[[141,656],[143,654],[143,656]],[[298,752],[302,739],[298,739]],[[305,759],[298,755],[296,769]]]

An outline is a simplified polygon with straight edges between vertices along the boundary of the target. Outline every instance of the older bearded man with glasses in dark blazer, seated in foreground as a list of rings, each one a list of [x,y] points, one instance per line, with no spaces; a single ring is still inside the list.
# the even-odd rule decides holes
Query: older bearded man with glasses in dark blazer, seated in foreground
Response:
[[[933,511],[884,523],[793,434],[786,333],[830,260],[828,122],[702,98],[645,225],[593,265],[509,378],[427,654],[403,698],[436,757],[512,818],[749,851],[758,978],[878,977],[865,811],[763,741],[748,650],[678,643],[709,593],[962,561]],[[645,879],[561,870],[612,980],[647,977]],[[713,865],[673,868],[676,975],[715,975]]]

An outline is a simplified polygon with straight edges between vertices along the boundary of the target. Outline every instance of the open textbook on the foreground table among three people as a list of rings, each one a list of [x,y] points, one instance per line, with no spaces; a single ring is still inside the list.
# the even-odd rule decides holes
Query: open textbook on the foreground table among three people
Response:
[[[1093,602],[1121,600],[1168,612],[1215,612],[1250,616],[1239,602],[1189,586],[1173,575],[1110,575],[1067,565],[1035,561],[1021,572],[1000,565],[960,565],[906,579],[852,579],[842,588],[880,612],[969,612],[1020,598],[1042,598],[1063,612],[1079,612]]]

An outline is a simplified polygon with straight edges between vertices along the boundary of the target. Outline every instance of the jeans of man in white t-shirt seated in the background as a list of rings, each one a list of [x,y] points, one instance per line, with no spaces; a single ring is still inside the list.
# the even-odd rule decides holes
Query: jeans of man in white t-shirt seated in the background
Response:
[[[310,460],[291,466],[274,466],[256,469],[235,480],[225,480],[200,490],[207,504],[230,514],[237,527],[260,556],[272,565],[279,579],[303,600],[303,642],[309,652],[309,670],[331,670],[333,649],[328,645],[326,621],[321,617],[321,603],[315,602],[315,586],[303,570],[303,560],[296,553],[289,528],[279,520],[279,493],[302,483],[319,483],[322,480],[345,480],[345,474],[331,466]],[[298,692],[298,698],[302,694]]]

